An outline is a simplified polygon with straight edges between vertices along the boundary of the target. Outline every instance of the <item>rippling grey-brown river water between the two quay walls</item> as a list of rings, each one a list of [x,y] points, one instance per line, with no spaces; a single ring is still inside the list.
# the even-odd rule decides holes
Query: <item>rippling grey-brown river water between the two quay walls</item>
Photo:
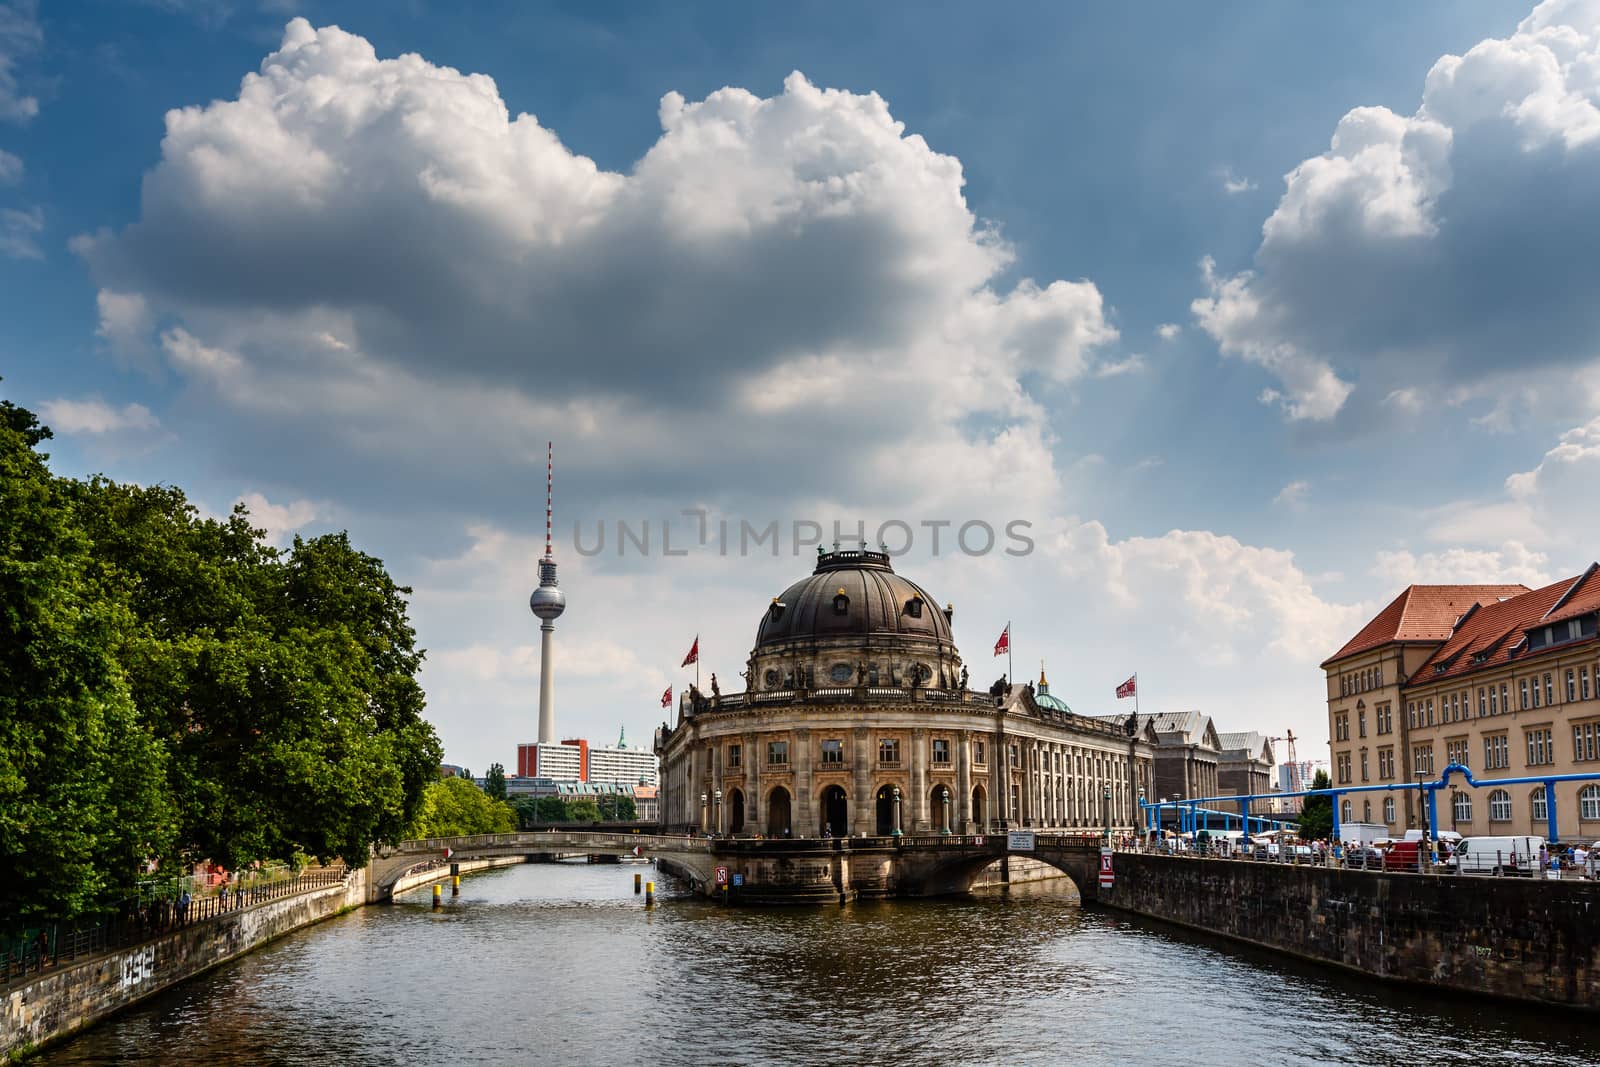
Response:
[[[635,870],[656,877],[646,912]],[[67,1064],[1584,1064],[1600,1021],[1008,899],[725,910],[651,867],[462,878],[291,934]]]

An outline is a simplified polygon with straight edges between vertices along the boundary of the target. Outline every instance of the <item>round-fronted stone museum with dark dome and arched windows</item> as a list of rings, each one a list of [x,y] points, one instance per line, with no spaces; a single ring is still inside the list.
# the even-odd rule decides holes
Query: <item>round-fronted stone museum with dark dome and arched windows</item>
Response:
[[[762,613],[746,691],[686,693],[656,731],[661,822],[808,838],[1136,825],[1149,726],[1080,715],[1043,673],[973,689],[952,614],[885,552],[819,550]]]

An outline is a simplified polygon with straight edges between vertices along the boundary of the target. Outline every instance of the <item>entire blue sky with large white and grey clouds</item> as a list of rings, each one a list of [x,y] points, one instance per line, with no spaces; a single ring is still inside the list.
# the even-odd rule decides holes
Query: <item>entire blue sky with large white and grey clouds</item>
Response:
[[[550,442],[563,736],[648,744],[696,635],[742,688],[837,536],[974,683],[1010,624],[1325,758],[1406,584],[1600,555],[1595,248],[1600,0],[0,0],[0,397],[349,530],[480,773]]]

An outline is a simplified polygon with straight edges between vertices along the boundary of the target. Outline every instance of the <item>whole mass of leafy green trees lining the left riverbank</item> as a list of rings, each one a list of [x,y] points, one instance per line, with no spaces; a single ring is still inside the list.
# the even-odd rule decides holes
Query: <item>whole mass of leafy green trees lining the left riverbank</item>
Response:
[[[410,589],[346,534],[266,542],[243,506],[54,477],[0,403],[0,875],[38,917],[146,861],[366,862],[442,757]]]

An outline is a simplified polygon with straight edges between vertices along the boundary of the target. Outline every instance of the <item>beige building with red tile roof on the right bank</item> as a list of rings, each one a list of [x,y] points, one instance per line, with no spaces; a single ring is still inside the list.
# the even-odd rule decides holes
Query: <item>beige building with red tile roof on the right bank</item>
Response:
[[[1600,773],[1600,565],[1542,589],[1411,585],[1323,662],[1334,785],[1395,782],[1341,801],[1342,821],[1398,837],[1426,814],[1419,777]],[[1483,793],[1483,795],[1477,795]],[[1440,827],[1600,837],[1600,781],[1474,790],[1440,800]]]

